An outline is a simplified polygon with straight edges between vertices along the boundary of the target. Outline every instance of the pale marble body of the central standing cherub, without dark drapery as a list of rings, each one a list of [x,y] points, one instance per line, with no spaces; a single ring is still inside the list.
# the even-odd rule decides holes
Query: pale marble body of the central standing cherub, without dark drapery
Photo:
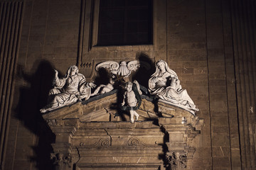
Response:
[[[134,94],[134,91],[132,91],[132,82],[131,81],[128,81],[126,84],[125,84],[125,89],[126,91],[124,92],[124,100],[122,102],[122,106],[124,106],[124,104],[126,103],[127,106],[129,106],[131,109],[129,110],[129,113],[130,113],[130,122],[131,123],[134,123],[134,115],[136,117],[136,120],[138,120],[139,118],[139,114],[134,111],[134,109],[132,108],[135,108],[136,105],[137,105],[137,98]]]

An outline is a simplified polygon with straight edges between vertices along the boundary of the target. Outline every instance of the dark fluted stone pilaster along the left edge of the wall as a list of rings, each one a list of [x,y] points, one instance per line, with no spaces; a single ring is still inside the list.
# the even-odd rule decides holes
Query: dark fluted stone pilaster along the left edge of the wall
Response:
[[[6,152],[6,135],[9,130],[9,117],[11,111],[11,98],[14,90],[14,73],[18,57],[18,47],[21,32],[22,1],[1,2],[1,169],[3,168],[4,154]]]

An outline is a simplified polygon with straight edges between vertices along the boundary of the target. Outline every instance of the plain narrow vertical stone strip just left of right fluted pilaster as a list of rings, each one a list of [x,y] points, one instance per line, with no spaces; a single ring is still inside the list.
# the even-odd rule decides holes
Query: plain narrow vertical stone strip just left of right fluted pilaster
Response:
[[[240,141],[239,141],[239,123],[238,123],[238,108],[235,103],[235,60],[234,51],[230,51],[233,47],[232,41],[232,21],[231,21],[231,6],[230,1],[223,1],[223,30],[224,30],[224,47],[225,47],[225,73],[226,73],[226,88],[228,96],[228,118],[230,123],[230,157],[231,157],[231,169],[242,169],[241,165],[241,153],[240,153]],[[232,68],[231,68],[232,66]],[[234,110],[235,109],[235,110]],[[236,120],[236,121],[234,121]],[[239,152],[238,152],[239,149]]]

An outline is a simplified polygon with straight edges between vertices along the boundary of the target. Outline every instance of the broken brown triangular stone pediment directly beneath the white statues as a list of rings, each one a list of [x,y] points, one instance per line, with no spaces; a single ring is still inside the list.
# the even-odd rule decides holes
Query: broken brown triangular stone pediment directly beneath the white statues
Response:
[[[129,115],[125,113],[120,115],[117,107],[117,90],[114,90],[43,114],[43,118],[47,121],[64,119],[78,119],[80,122],[128,121]],[[194,124],[193,121],[198,119],[196,115],[173,103],[166,103],[161,99],[156,101],[155,98],[146,95],[142,95],[142,104],[137,112],[140,115],[139,121],[171,118],[176,123]]]

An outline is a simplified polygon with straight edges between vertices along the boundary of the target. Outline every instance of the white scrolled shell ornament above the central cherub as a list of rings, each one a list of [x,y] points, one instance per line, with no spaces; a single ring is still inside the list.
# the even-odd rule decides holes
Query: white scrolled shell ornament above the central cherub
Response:
[[[122,61],[120,64],[118,62],[102,62],[97,64],[96,70],[98,71],[100,68],[110,69],[112,74],[118,74],[119,76],[128,77],[132,71],[136,71],[140,67],[139,61],[134,60],[131,62]]]

